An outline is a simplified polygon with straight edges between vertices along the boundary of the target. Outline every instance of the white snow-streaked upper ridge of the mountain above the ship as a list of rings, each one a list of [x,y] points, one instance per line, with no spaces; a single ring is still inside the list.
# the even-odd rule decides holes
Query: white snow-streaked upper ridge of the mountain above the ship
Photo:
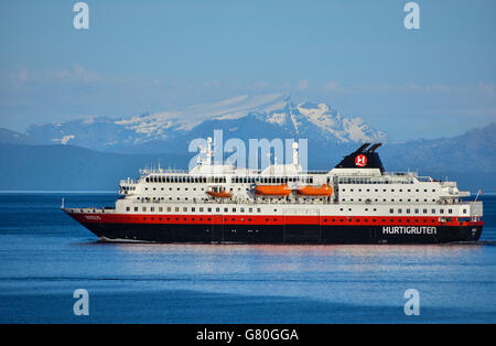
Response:
[[[163,138],[166,130],[191,131],[208,120],[229,121],[256,115],[258,119],[280,127],[289,127],[298,136],[313,136],[315,130],[325,139],[337,142],[385,140],[382,132],[370,129],[362,118],[346,118],[327,104],[294,105],[289,93],[241,95],[213,104],[186,107],[180,111],[164,111],[132,116],[115,121],[147,138]]]

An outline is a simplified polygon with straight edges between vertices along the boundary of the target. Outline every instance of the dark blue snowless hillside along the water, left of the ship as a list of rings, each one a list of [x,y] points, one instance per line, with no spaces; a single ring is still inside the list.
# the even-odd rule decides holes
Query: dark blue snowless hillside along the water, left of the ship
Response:
[[[121,179],[139,176],[139,169],[183,155],[125,155],[73,145],[0,144],[0,190],[117,191]]]

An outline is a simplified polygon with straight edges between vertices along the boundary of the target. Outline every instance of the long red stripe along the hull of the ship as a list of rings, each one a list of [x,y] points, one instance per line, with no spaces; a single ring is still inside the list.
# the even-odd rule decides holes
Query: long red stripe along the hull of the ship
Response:
[[[276,216],[276,215],[151,215],[151,214],[71,214],[79,223],[95,224],[190,224],[190,225],[344,225],[344,226],[483,226],[484,221],[440,223],[439,217],[422,216]]]

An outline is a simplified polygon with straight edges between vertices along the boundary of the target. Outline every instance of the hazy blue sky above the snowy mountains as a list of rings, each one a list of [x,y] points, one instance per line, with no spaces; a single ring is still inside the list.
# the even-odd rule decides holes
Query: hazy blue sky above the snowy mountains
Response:
[[[395,141],[496,121],[496,2],[0,1],[0,127],[291,91]]]

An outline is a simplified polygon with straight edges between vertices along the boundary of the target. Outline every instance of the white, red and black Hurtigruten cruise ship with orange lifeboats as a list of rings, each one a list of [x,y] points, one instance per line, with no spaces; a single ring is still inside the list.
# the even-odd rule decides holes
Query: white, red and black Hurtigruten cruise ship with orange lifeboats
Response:
[[[476,241],[483,204],[455,182],[388,173],[364,143],[330,171],[292,162],[215,164],[212,139],[190,171],[141,170],[114,207],[62,207],[100,241],[188,244],[443,244]],[[465,199],[463,199],[465,198]]]

